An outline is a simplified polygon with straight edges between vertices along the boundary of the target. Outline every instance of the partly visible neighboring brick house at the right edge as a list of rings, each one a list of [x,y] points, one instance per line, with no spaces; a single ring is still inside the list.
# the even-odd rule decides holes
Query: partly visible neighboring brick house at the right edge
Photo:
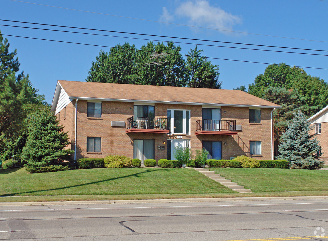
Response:
[[[328,163],[328,106],[309,118],[314,125],[311,134],[316,134],[320,142],[319,159]]]

